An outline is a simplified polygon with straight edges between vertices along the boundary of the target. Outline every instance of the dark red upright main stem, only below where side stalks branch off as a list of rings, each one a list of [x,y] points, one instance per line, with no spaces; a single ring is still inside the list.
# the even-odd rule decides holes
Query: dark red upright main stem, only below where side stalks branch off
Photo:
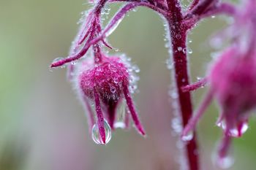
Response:
[[[182,87],[189,85],[189,75],[187,70],[187,54],[182,50],[186,48],[187,33],[181,29],[175,28],[172,36],[173,45],[173,61],[175,66],[176,87],[178,89],[178,101],[181,109],[181,117],[183,127],[187,125],[190,117],[192,117],[192,101],[189,92],[183,92]],[[179,39],[175,36],[180,37]],[[189,170],[199,170],[198,150],[197,150],[197,136],[194,131],[193,139],[186,143],[187,158],[189,163]]]

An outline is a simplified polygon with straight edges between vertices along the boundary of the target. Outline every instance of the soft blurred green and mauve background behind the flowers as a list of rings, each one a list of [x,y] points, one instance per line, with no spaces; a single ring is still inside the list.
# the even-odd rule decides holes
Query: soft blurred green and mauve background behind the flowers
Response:
[[[111,5],[111,13],[120,4]],[[140,66],[135,95],[148,137],[132,128],[117,130],[107,146],[89,136],[83,107],[66,69],[50,72],[54,58],[66,56],[78,30],[85,0],[0,0],[0,169],[1,170],[178,170],[178,136],[173,135],[170,70],[162,18],[150,9],[130,12],[109,42]],[[214,49],[209,37],[227,20],[204,20],[189,34],[192,81],[206,74]],[[116,53],[110,51],[110,53]],[[195,107],[207,87],[193,93]],[[218,109],[212,104],[198,125],[203,169],[218,169],[211,161],[221,136],[214,124]],[[236,159],[230,169],[255,169],[256,124],[233,144]]]

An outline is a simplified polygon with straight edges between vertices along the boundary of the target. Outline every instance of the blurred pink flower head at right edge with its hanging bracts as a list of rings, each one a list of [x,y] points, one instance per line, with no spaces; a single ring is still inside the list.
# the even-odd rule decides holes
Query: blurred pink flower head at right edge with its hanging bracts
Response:
[[[240,137],[248,128],[249,113],[256,108],[256,53],[244,55],[237,47],[230,47],[219,56],[208,73],[210,90],[195,116],[184,128],[183,139],[191,134],[211,99],[215,97],[220,107],[217,125],[224,137],[219,145],[218,163],[225,166],[231,137]]]

